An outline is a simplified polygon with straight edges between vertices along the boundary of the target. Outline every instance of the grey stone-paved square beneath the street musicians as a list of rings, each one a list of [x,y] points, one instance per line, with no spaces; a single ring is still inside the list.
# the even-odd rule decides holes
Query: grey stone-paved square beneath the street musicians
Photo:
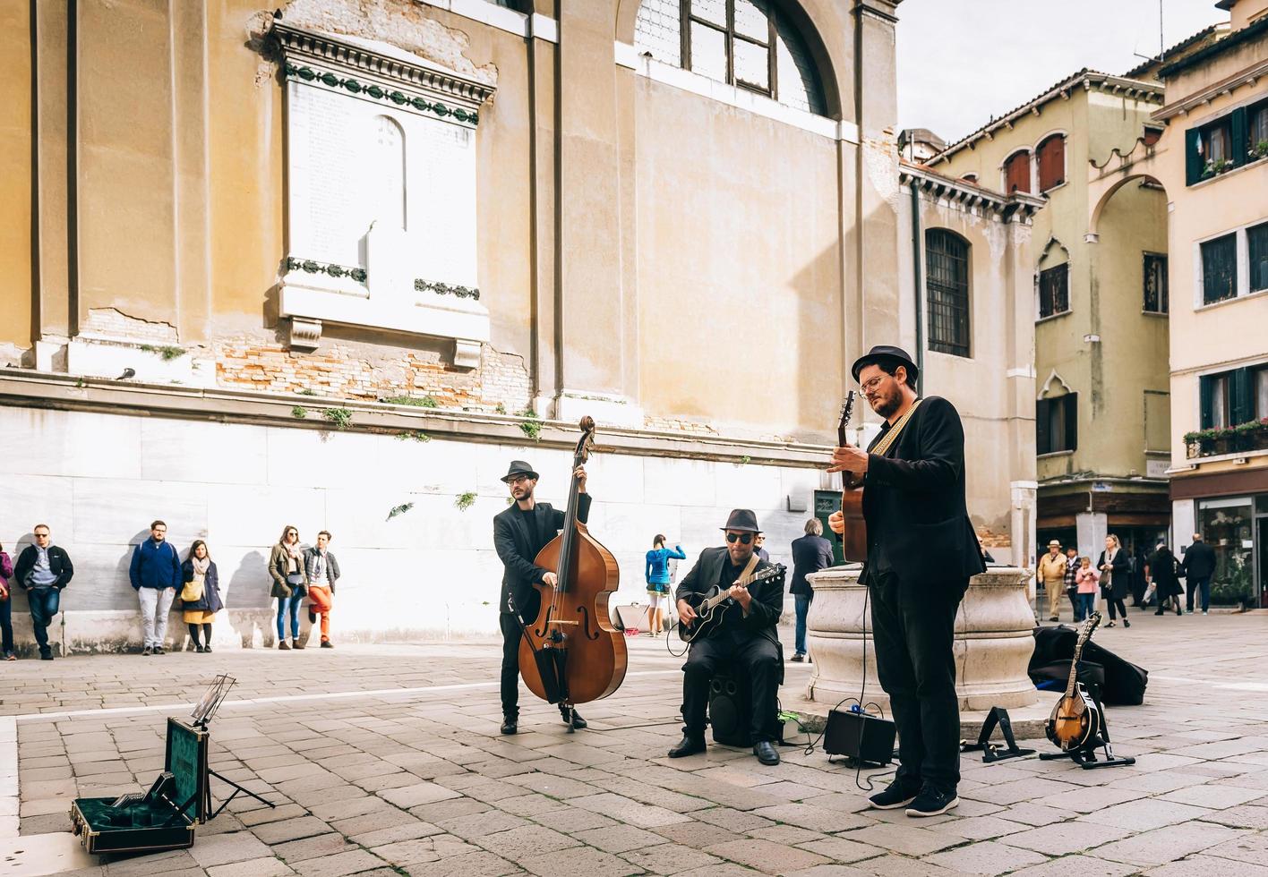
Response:
[[[965,755],[960,807],[931,820],[866,811],[855,772],[822,752],[785,748],[771,768],[715,745],[666,758],[681,660],[648,637],[628,640],[624,687],[574,735],[531,696],[521,733],[498,735],[491,644],[0,664],[20,795],[0,784],[0,819],[65,831],[71,798],[147,787],[166,716],[224,672],[238,687],[212,767],[278,806],[240,797],[193,849],[76,873],[1268,877],[1268,615],[1132,617],[1097,641],[1151,673],[1144,706],[1108,715],[1136,765]],[[790,687],[808,677],[789,664]],[[0,840],[0,873],[23,843]]]

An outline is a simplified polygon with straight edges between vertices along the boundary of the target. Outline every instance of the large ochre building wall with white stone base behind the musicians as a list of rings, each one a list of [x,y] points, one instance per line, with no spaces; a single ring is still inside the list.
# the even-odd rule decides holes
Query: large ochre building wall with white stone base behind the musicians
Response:
[[[71,553],[63,648],[136,641],[127,559],[155,517],[208,540],[223,644],[271,641],[288,523],[333,532],[345,637],[491,632],[498,479],[527,459],[558,503],[582,414],[614,602],[654,534],[699,550],[735,506],[785,555],[834,484],[846,364],[917,346],[895,11],[10,5],[0,57],[30,87],[0,120],[0,541],[47,522]],[[1000,560],[1031,544],[1033,427],[979,388],[1030,336],[993,342],[1012,286],[976,272],[1032,210],[966,221],[981,316],[927,370],[966,413]]]

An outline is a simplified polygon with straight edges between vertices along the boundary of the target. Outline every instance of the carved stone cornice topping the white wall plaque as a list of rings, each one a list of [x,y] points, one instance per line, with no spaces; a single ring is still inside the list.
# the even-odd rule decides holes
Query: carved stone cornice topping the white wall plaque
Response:
[[[385,100],[402,109],[454,118],[458,118],[454,110],[459,109],[468,119],[458,120],[474,124],[479,105],[496,90],[484,82],[432,67],[422,58],[402,57],[403,52],[377,51],[353,38],[306,30],[281,22],[273,25],[269,35],[285,62],[288,77],[298,76],[314,85]],[[304,75],[304,70],[311,75]]]

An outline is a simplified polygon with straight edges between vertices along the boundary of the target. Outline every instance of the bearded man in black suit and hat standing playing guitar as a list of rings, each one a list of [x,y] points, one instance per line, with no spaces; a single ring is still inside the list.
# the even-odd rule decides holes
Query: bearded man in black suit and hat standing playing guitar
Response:
[[[915,394],[917,368],[880,345],[851,369],[885,418],[867,451],[838,447],[828,471],[862,477],[876,673],[900,740],[896,777],[869,801],[935,816],[960,798],[955,616],[969,578],[985,569],[965,504],[964,428],[950,402]],[[829,526],[842,532],[834,513]]]

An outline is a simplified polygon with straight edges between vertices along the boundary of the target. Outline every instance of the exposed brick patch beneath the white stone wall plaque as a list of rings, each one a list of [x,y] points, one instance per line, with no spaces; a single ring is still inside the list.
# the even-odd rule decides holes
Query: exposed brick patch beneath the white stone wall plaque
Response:
[[[256,341],[216,345],[216,380],[221,387],[268,393],[311,392],[335,399],[374,400],[394,395],[430,395],[441,408],[521,411],[530,383],[524,360],[488,345],[478,369],[455,369],[436,355],[399,351],[394,356],[359,356],[331,345],[303,354]]]

